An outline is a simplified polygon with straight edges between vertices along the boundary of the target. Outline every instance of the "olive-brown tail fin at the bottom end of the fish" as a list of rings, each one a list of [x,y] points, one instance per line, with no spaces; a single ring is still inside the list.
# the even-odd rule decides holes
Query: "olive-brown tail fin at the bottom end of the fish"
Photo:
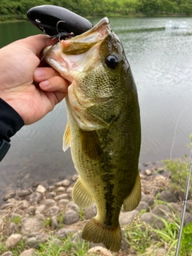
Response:
[[[102,242],[106,249],[118,252],[122,246],[121,227],[106,226],[92,218],[82,230],[82,238],[90,242]]]

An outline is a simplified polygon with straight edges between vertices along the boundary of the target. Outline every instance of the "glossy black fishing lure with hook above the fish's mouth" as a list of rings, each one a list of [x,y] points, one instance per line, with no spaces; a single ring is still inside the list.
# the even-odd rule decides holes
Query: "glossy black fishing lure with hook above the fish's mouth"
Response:
[[[52,38],[71,38],[93,27],[86,18],[60,6],[35,6],[26,15],[34,26]]]

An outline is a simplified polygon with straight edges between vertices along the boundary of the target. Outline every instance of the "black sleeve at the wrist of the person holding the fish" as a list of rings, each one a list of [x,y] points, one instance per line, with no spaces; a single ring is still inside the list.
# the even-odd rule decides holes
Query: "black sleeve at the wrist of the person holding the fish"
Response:
[[[24,126],[18,112],[0,98],[0,162],[10,148],[10,137]]]

